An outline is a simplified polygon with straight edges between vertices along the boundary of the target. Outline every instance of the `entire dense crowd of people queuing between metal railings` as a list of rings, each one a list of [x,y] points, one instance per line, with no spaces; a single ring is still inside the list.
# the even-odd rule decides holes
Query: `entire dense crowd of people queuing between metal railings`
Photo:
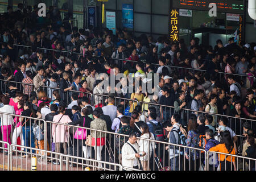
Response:
[[[36,119],[24,118],[33,117],[69,125],[47,125],[48,145],[55,143],[56,152],[64,154],[71,153],[67,148],[72,125],[130,135],[119,137],[119,147],[109,145],[117,150],[119,162],[130,168],[160,169],[154,166],[154,160],[164,166],[170,163],[171,170],[200,168],[198,150],[183,148],[181,151],[175,146],[143,139],[137,143],[137,137],[256,158],[256,127],[251,122],[256,118],[255,43],[238,46],[230,38],[228,44],[217,40],[212,47],[199,45],[199,39],[193,38],[186,45],[183,39],[171,42],[167,36],[160,36],[156,41],[144,34],[135,36],[126,28],[117,28],[114,35],[108,28],[84,29],[62,23],[53,7],[46,18],[38,17],[36,7],[32,11],[31,7],[23,9],[19,4],[13,11],[8,6],[7,13],[0,16],[0,111],[20,115],[0,114],[2,141],[16,144],[20,137],[22,146],[35,147],[32,124]],[[69,14],[65,16],[68,18]],[[114,93],[110,93],[113,85],[109,81],[108,88],[102,88],[108,77],[102,78],[101,73],[108,77],[119,73],[125,77],[132,75],[139,86],[127,92],[128,82],[121,78],[114,83]],[[148,81],[150,75],[154,79],[156,74],[159,80]],[[158,90],[157,94],[142,90],[142,82],[157,82],[151,88]],[[115,97],[124,100],[117,101]],[[148,104],[141,106],[132,100]],[[159,105],[167,107],[163,109]],[[193,112],[188,115],[184,109]],[[158,131],[163,132],[163,137],[159,137]],[[237,146],[238,134],[245,135],[243,146]],[[75,138],[75,133],[72,135]],[[180,139],[182,136],[184,140]],[[205,146],[200,145],[202,137]],[[88,147],[86,138],[92,139],[93,147]],[[80,148],[76,155],[105,160],[102,146],[113,138],[87,130],[82,139],[87,144],[79,137],[73,141],[73,148]],[[163,159],[164,152],[170,160]],[[181,166],[183,155],[186,165]],[[221,170],[223,166],[227,170],[238,167],[230,156],[220,155],[219,160]],[[224,160],[230,164],[224,164]],[[212,168],[217,168],[218,161],[214,164]],[[250,169],[255,169],[255,163],[250,163]]]

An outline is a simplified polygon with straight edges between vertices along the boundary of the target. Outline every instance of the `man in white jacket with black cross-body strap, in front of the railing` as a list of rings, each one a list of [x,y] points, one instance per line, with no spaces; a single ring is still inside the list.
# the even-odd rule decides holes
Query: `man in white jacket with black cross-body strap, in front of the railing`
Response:
[[[139,146],[136,142],[137,137],[135,133],[131,133],[129,135],[129,140],[122,147],[122,165],[126,171],[131,171],[131,169],[127,169],[125,167],[139,169],[141,168],[141,162],[139,161],[139,157],[141,157],[139,152]],[[143,152],[143,156],[146,155]]]

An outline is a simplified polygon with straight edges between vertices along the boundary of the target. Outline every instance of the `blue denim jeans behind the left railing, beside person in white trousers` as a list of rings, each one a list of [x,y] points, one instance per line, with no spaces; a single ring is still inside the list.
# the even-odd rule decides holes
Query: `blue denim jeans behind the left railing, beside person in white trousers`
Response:
[[[35,135],[32,132],[32,126],[23,126],[22,127],[22,134],[24,139],[24,145],[27,147],[35,148]],[[27,151],[25,149],[25,151]],[[30,150],[28,150],[30,151]],[[32,150],[32,153],[35,153],[35,150]]]

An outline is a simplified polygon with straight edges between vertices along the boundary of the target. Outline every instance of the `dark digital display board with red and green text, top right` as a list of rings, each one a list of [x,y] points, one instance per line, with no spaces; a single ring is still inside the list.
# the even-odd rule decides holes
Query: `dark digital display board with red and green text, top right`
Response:
[[[209,11],[209,3],[216,3],[217,12],[243,13],[242,0],[173,0],[172,7],[180,9]]]

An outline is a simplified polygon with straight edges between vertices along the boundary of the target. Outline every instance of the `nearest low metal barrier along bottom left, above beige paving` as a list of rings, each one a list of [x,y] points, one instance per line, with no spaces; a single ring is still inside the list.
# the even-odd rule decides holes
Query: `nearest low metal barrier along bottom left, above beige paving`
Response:
[[[64,155],[61,153],[49,151],[49,150],[42,150],[40,148],[32,148],[32,147],[24,147],[27,150],[35,150],[36,153],[33,154],[31,152],[27,152],[29,156],[34,156],[36,158],[36,163],[32,164],[30,158],[22,158],[22,154],[24,152],[21,152],[20,154],[16,151],[13,150],[15,147],[21,147],[20,145],[17,144],[11,144],[10,147],[10,153],[13,155],[10,155],[10,166],[11,166],[11,171],[23,171],[23,170],[31,170],[32,166],[36,166],[36,171],[84,171],[85,168],[90,168],[92,170],[98,169],[96,167],[96,163],[100,162],[98,160],[94,159],[86,159],[86,158],[79,158],[77,156],[71,156],[71,155]],[[40,154],[48,154],[46,159],[42,158],[42,155]],[[81,160],[82,163],[74,163],[74,162],[69,162],[69,159],[76,159]],[[51,162],[48,162],[51,161]],[[59,162],[53,164],[53,161]],[[109,171],[111,168],[114,168],[115,170],[121,170],[122,171],[122,166],[120,164],[115,164],[115,163],[109,163],[109,162],[104,162],[101,161],[102,164],[104,164],[100,169],[103,169],[104,171]],[[75,164],[75,165],[70,165],[70,164]],[[109,165],[109,168],[106,167],[106,165]],[[34,169],[35,170],[35,169]]]

